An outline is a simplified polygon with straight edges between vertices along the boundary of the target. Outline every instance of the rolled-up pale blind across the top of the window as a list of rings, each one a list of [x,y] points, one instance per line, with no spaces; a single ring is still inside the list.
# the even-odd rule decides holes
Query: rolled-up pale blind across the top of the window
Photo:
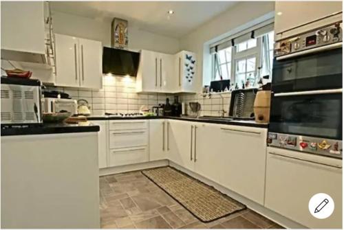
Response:
[[[218,41],[217,43],[211,44],[210,45],[211,54],[215,53],[218,50],[231,47],[235,44],[248,41],[248,39],[250,38],[257,38],[268,32],[271,32],[272,30],[274,30],[273,22],[274,22],[273,19],[269,19],[268,21],[264,21],[252,27],[249,27],[248,29],[242,32],[228,36],[227,38],[224,38],[221,41]]]

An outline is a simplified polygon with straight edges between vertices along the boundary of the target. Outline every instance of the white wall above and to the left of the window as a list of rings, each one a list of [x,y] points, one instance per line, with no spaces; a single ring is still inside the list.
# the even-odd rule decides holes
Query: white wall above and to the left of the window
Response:
[[[273,15],[275,1],[241,2],[216,16],[211,21],[180,39],[180,49],[193,51],[197,54],[197,84],[201,91],[204,82],[211,78],[211,56],[208,47],[230,34],[252,26],[252,23],[265,21]]]

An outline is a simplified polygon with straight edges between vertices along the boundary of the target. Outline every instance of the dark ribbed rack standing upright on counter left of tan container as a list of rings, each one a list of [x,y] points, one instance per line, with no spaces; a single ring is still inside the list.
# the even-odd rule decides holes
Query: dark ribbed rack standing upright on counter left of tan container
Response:
[[[233,90],[230,97],[229,117],[233,119],[255,119],[253,105],[257,91],[257,88]]]

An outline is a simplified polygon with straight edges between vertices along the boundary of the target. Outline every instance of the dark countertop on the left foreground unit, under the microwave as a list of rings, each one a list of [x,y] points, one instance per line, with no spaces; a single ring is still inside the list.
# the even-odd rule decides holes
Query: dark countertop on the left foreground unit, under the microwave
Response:
[[[40,126],[28,126],[20,128],[5,128],[1,125],[1,137],[15,136],[15,135],[42,135],[54,133],[88,133],[98,132],[99,126],[92,124],[92,122],[80,124],[41,124]]]

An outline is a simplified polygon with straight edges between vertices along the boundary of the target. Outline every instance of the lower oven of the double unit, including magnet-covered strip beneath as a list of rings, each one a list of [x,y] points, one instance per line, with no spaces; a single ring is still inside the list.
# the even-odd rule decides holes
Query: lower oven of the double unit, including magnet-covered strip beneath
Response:
[[[342,89],[276,93],[268,145],[342,158]]]

